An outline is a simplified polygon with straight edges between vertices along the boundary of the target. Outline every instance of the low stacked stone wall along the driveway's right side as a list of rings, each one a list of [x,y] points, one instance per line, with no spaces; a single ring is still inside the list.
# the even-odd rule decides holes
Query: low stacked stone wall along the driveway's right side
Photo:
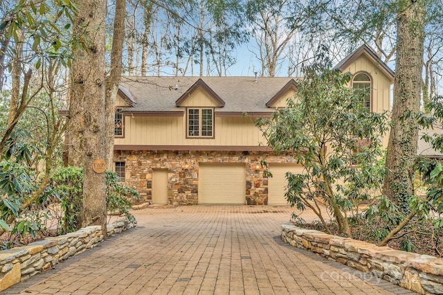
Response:
[[[443,294],[443,259],[282,224],[282,240],[419,294]]]

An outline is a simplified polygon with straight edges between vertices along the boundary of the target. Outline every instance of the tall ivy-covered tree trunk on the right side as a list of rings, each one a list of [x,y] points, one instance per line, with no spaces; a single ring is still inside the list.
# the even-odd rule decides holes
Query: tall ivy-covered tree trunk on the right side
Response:
[[[410,161],[417,155],[418,127],[409,112],[419,111],[424,53],[424,0],[399,1],[397,60],[386,172],[383,193],[408,212],[413,186],[408,177]],[[405,117],[406,116],[406,117]]]

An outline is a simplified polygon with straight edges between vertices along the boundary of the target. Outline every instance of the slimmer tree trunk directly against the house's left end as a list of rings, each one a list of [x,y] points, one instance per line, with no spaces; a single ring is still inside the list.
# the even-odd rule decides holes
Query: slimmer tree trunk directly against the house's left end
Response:
[[[114,163],[114,128],[116,97],[118,85],[122,75],[123,42],[125,38],[125,15],[126,1],[116,0],[116,14],[114,17],[114,34],[112,36],[111,48],[111,71],[107,78],[107,89],[105,98],[106,116],[106,166],[112,170]]]

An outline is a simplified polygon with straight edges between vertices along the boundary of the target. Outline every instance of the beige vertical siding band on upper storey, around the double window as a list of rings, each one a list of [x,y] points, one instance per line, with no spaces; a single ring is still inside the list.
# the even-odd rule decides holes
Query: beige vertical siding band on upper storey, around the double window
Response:
[[[264,143],[252,118],[215,116],[215,138],[186,138],[186,116],[125,117],[125,137],[116,145],[254,145]]]

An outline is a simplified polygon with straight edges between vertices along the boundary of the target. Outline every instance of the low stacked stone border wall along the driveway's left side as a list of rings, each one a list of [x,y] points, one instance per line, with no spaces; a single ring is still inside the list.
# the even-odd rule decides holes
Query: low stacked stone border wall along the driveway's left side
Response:
[[[136,226],[118,220],[107,225],[109,236]],[[59,262],[95,247],[102,242],[101,226],[87,226],[74,233],[33,242],[24,247],[0,251],[0,292],[12,285],[51,269]]]

